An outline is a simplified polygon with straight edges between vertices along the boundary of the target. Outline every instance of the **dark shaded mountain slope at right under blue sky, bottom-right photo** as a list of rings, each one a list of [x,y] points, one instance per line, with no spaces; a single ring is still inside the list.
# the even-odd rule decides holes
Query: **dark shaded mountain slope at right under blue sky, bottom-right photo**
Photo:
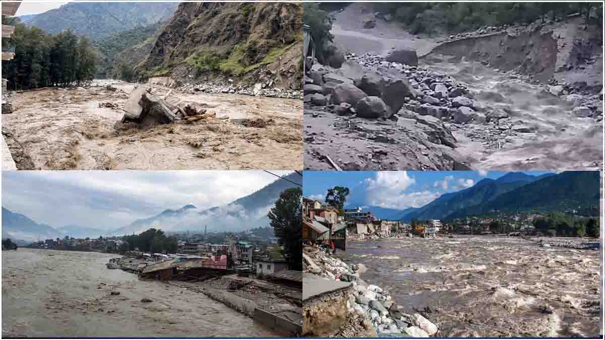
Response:
[[[543,177],[475,206],[460,209],[446,219],[498,211],[566,211],[598,205],[600,178],[597,171],[566,171]]]

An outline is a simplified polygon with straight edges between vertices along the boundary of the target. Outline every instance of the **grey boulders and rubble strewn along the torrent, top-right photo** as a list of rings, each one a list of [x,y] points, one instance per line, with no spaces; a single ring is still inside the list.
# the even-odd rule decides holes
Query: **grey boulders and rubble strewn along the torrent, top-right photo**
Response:
[[[450,136],[451,132],[461,131],[470,140],[481,142],[488,149],[501,149],[508,143],[513,143],[515,136],[519,134],[538,132],[537,126],[512,118],[509,114],[512,112],[511,107],[499,93],[480,94],[501,99],[499,101],[502,103],[485,107],[469,93],[465,85],[456,82],[448,74],[388,62],[385,57],[373,53],[361,56],[349,53],[345,54],[345,59],[347,63],[355,63],[374,72],[357,74],[355,77],[359,79],[352,80],[335,74],[330,67],[314,64],[309,76],[304,79],[306,85],[303,100],[310,110],[367,119],[397,120],[398,117],[405,117],[417,120],[419,116],[432,116],[443,123],[439,124],[438,129],[442,131],[438,134]],[[402,75],[401,79],[393,76],[397,73]],[[531,82],[530,76],[512,71],[509,74],[511,78]],[[397,87],[390,94],[388,87],[393,85]],[[558,84],[553,80],[544,85],[540,96],[559,97],[572,104],[573,108],[569,110],[572,116],[593,119],[595,122],[603,120],[603,93],[590,94],[590,91],[576,85]],[[361,99],[365,101],[361,102]],[[370,102],[371,105],[368,105]],[[350,108],[343,108],[343,103],[350,105]],[[387,111],[390,108],[392,112],[385,111],[384,103],[388,105]],[[361,112],[359,105],[362,106]],[[433,142],[448,144],[442,138],[434,138]],[[456,147],[453,137],[451,147]]]

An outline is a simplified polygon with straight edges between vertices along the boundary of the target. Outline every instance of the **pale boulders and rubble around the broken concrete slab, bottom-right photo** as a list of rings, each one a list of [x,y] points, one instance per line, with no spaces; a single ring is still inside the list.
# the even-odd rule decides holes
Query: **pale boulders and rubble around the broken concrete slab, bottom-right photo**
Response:
[[[348,322],[336,336],[359,336],[369,327],[378,336],[427,338],[443,336],[439,327],[421,313],[407,314],[387,290],[362,280],[367,271],[363,264],[348,265],[338,257],[318,248],[307,253],[312,263],[305,260],[304,271],[321,276],[325,280],[350,282],[352,294],[347,301]],[[368,324],[369,321],[369,324]]]

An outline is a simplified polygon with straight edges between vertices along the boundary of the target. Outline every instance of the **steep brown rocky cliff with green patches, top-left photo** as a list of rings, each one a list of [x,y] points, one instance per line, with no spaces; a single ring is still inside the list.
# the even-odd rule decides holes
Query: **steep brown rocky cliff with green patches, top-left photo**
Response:
[[[194,80],[268,69],[289,83],[299,76],[301,39],[299,4],[184,2],[137,71]]]

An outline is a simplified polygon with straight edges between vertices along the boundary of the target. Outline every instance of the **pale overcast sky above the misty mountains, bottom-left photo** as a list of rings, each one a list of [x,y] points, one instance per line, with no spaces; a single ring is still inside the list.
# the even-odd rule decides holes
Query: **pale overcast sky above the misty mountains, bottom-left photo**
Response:
[[[2,206],[54,227],[113,230],[185,204],[230,203],[277,179],[264,171],[2,171]]]

